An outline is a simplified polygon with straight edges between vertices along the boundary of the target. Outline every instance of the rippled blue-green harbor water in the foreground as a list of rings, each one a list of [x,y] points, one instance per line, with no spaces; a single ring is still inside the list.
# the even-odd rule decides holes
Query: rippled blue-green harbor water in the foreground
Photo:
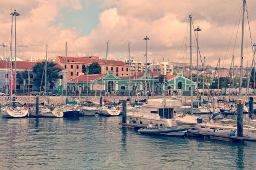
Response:
[[[141,135],[121,117],[0,118],[1,169],[256,169],[256,142]]]

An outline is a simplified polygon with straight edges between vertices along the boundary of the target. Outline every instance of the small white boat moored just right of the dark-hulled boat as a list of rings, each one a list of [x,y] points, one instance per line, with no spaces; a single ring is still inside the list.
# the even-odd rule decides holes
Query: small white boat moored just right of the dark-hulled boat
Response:
[[[94,116],[98,109],[94,106],[93,102],[83,101],[80,102],[80,115],[82,116]]]

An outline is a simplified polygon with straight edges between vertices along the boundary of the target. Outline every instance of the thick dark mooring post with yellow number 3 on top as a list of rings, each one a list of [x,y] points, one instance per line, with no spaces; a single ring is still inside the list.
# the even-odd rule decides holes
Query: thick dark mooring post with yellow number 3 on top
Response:
[[[244,101],[242,99],[237,100],[237,112],[238,112],[238,136],[243,137],[244,136],[244,122],[243,122],[243,106]]]

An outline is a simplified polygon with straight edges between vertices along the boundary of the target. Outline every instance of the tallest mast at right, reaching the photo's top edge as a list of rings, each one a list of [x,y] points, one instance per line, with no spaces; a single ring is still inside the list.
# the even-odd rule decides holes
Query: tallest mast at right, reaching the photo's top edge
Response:
[[[243,71],[243,48],[244,48],[244,11],[245,11],[245,3],[243,0],[243,18],[242,18],[242,39],[241,39],[241,63],[240,63],[240,83],[239,83],[239,97],[242,98],[242,71]]]

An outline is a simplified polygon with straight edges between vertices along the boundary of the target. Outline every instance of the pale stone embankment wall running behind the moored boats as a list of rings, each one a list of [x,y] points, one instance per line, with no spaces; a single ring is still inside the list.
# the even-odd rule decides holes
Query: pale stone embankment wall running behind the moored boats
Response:
[[[254,101],[256,100],[256,96],[252,96],[254,98]],[[127,97],[126,96],[103,96],[103,99],[107,98],[111,101],[115,101],[118,102],[120,100],[124,100]],[[171,96],[154,96],[154,99],[159,99],[159,98],[172,98]],[[184,100],[190,100],[190,96],[178,96],[178,98],[182,98]],[[239,96],[233,96],[233,99],[236,100],[238,99]],[[78,96],[74,97],[74,96],[69,96],[68,97],[69,101],[74,101],[74,100],[79,100],[79,101],[92,101],[92,102],[98,102],[99,103],[99,99],[100,96],[80,96],[80,99]],[[143,100],[143,99],[147,99],[146,96],[132,96],[132,102],[134,102],[135,100]],[[152,99],[152,97],[150,96],[149,99]],[[194,96],[194,99],[196,100],[196,96]],[[205,100],[208,100],[208,96],[204,96]],[[220,96],[220,99],[223,99],[223,96]],[[232,100],[232,98],[230,98]],[[244,99],[244,96],[243,96]],[[42,103],[44,102],[44,100],[47,100],[47,98],[44,98],[44,96],[39,96],[39,102]],[[225,100],[228,101],[228,96],[225,97]],[[248,100],[248,98],[247,98]],[[35,104],[35,96],[27,96],[27,95],[17,95],[16,96],[16,101],[24,101],[27,102],[29,104]],[[0,102],[1,103],[6,103],[6,96],[0,96]],[[66,103],[66,96],[49,96],[49,102],[53,105],[63,105]]]

